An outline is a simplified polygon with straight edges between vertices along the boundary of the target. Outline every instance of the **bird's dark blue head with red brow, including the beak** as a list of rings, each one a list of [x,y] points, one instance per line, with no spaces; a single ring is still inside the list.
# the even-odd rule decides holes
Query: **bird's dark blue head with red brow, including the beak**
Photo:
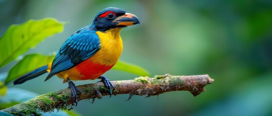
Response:
[[[127,13],[120,8],[109,7],[103,9],[95,16],[91,26],[96,30],[106,31],[139,23],[139,19],[134,14]]]

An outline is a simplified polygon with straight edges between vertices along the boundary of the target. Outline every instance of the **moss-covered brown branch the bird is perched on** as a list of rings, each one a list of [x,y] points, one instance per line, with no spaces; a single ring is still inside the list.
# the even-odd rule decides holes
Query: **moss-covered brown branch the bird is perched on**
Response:
[[[209,75],[189,75],[189,76],[174,76],[174,75],[156,75],[153,78],[138,77],[134,80],[111,81],[115,86],[114,95],[129,94],[128,100],[133,95],[154,96],[169,91],[190,91],[194,96],[205,91],[204,86],[211,84],[214,79]],[[102,98],[109,95],[108,90],[102,82],[92,83],[87,85],[77,86],[82,93],[78,96],[78,100]],[[113,98],[111,98],[113,99]],[[40,115],[40,112],[52,112],[54,109],[65,110],[73,105],[74,99],[71,96],[69,88],[43,94],[12,107],[0,110],[13,115],[29,116]],[[80,102],[79,102],[80,103]]]

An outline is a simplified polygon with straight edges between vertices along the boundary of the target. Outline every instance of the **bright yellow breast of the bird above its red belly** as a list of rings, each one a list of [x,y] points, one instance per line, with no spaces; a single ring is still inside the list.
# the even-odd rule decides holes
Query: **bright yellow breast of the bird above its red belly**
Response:
[[[97,31],[101,49],[89,60],[104,65],[114,65],[123,51],[123,42],[120,36],[121,28],[109,29],[105,32]]]

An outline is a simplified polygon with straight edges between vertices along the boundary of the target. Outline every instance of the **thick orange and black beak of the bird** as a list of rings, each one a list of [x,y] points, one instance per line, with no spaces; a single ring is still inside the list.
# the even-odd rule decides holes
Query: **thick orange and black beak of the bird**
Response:
[[[112,22],[117,22],[116,26],[131,26],[135,24],[140,24],[140,21],[137,18],[137,16],[130,13],[126,13],[122,16],[119,16]]]

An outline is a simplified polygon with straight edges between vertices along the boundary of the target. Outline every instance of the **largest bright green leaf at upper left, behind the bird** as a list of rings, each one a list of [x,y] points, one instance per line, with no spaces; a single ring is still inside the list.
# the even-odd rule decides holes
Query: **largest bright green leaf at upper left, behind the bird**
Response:
[[[0,68],[35,47],[45,38],[63,31],[64,23],[54,18],[29,20],[11,25],[0,38]]]

